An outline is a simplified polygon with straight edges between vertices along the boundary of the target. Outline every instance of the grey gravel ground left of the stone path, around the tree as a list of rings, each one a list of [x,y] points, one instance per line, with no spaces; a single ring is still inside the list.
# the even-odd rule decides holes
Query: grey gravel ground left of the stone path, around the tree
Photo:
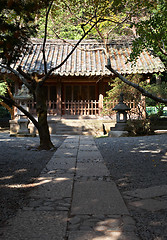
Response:
[[[64,137],[53,137],[57,148]],[[20,184],[34,182],[54,151],[38,151],[39,138],[10,138],[0,133],[0,227],[28,201],[31,187]]]

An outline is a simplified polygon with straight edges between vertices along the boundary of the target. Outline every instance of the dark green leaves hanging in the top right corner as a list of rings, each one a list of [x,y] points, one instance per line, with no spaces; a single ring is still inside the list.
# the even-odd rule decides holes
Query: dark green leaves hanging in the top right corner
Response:
[[[159,0],[150,6],[150,12],[134,24],[138,37],[133,42],[131,60],[136,59],[143,49],[152,51],[164,63],[167,62],[167,1]]]

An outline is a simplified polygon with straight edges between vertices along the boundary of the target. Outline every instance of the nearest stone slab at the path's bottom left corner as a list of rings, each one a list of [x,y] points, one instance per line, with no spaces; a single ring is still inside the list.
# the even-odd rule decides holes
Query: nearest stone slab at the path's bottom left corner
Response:
[[[8,225],[3,240],[64,240],[67,212],[20,211]]]

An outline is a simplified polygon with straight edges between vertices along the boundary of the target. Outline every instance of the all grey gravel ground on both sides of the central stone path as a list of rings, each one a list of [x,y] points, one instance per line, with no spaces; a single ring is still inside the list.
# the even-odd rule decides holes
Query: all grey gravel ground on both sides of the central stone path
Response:
[[[53,137],[56,147],[64,137]],[[120,192],[167,184],[167,135],[97,138],[113,180]],[[10,138],[0,133],[0,227],[28,201],[32,183],[54,151],[37,151],[38,138]],[[166,159],[166,161],[165,161]],[[163,161],[164,160],[164,161]],[[167,210],[129,209],[142,240],[167,240]]]

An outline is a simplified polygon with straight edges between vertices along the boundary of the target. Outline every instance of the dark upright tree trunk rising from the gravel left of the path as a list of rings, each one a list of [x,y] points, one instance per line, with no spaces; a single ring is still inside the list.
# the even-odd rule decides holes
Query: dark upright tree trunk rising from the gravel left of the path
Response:
[[[54,147],[51,142],[49,127],[47,122],[47,107],[46,107],[46,97],[44,94],[44,87],[41,87],[39,83],[37,84],[35,90],[36,96],[36,110],[38,116],[38,124],[39,124],[39,138],[40,138],[40,146],[39,149],[49,150]]]

